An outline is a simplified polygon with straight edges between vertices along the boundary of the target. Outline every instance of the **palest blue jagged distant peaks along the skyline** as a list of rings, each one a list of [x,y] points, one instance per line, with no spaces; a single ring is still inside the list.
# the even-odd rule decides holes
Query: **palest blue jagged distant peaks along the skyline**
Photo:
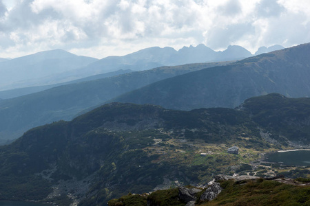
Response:
[[[269,48],[269,50],[280,49],[280,47]],[[140,71],[160,66],[240,60],[249,56],[253,56],[251,52],[237,45],[230,45],[223,52],[215,52],[213,49],[202,44],[197,47],[183,47],[178,51],[172,47],[150,47],[125,56],[109,56],[103,58],[77,72],[83,73],[87,71],[95,74],[115,71],[115,69],[132,69]]]

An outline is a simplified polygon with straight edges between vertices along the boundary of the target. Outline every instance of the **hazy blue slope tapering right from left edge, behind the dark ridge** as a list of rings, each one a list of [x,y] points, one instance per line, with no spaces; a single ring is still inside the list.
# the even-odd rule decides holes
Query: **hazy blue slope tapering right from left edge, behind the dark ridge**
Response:
[[[147,84],[207,67],[226,65],[227,63],[229,62],[159,67],[110,78],[66,84],[38,93],[1,100],[0,140],[2,142],[0,144],[8,139],[16,139],[34,126],[60,119],[70,120],[87,108],[93,108],[111,98]]]

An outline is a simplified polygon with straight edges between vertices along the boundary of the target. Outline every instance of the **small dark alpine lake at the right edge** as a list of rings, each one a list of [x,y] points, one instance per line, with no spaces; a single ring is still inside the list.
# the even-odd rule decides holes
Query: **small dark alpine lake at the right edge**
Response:
[[[265,155],[265,161],[282,165],[310,166],[310,150],[279,151]]]

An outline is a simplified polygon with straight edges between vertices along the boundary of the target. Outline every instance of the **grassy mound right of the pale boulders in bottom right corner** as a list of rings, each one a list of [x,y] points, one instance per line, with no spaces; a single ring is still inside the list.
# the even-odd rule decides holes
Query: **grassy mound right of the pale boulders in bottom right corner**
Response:
[[[260,179],[245,184],[225,181],[216,199],[207,205],[309,205],[310,186],[294,186]]]

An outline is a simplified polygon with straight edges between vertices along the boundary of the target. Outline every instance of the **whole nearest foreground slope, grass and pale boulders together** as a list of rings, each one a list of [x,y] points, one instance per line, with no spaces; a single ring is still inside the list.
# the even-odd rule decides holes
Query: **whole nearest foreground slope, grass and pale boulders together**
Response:
[[[238,196],[239,192],[242,194]],[[309,192],[310,179],[219,174],[200,187],[188,185],[151,194],[128,194],[109,201],[108,205],[308,205]]]

